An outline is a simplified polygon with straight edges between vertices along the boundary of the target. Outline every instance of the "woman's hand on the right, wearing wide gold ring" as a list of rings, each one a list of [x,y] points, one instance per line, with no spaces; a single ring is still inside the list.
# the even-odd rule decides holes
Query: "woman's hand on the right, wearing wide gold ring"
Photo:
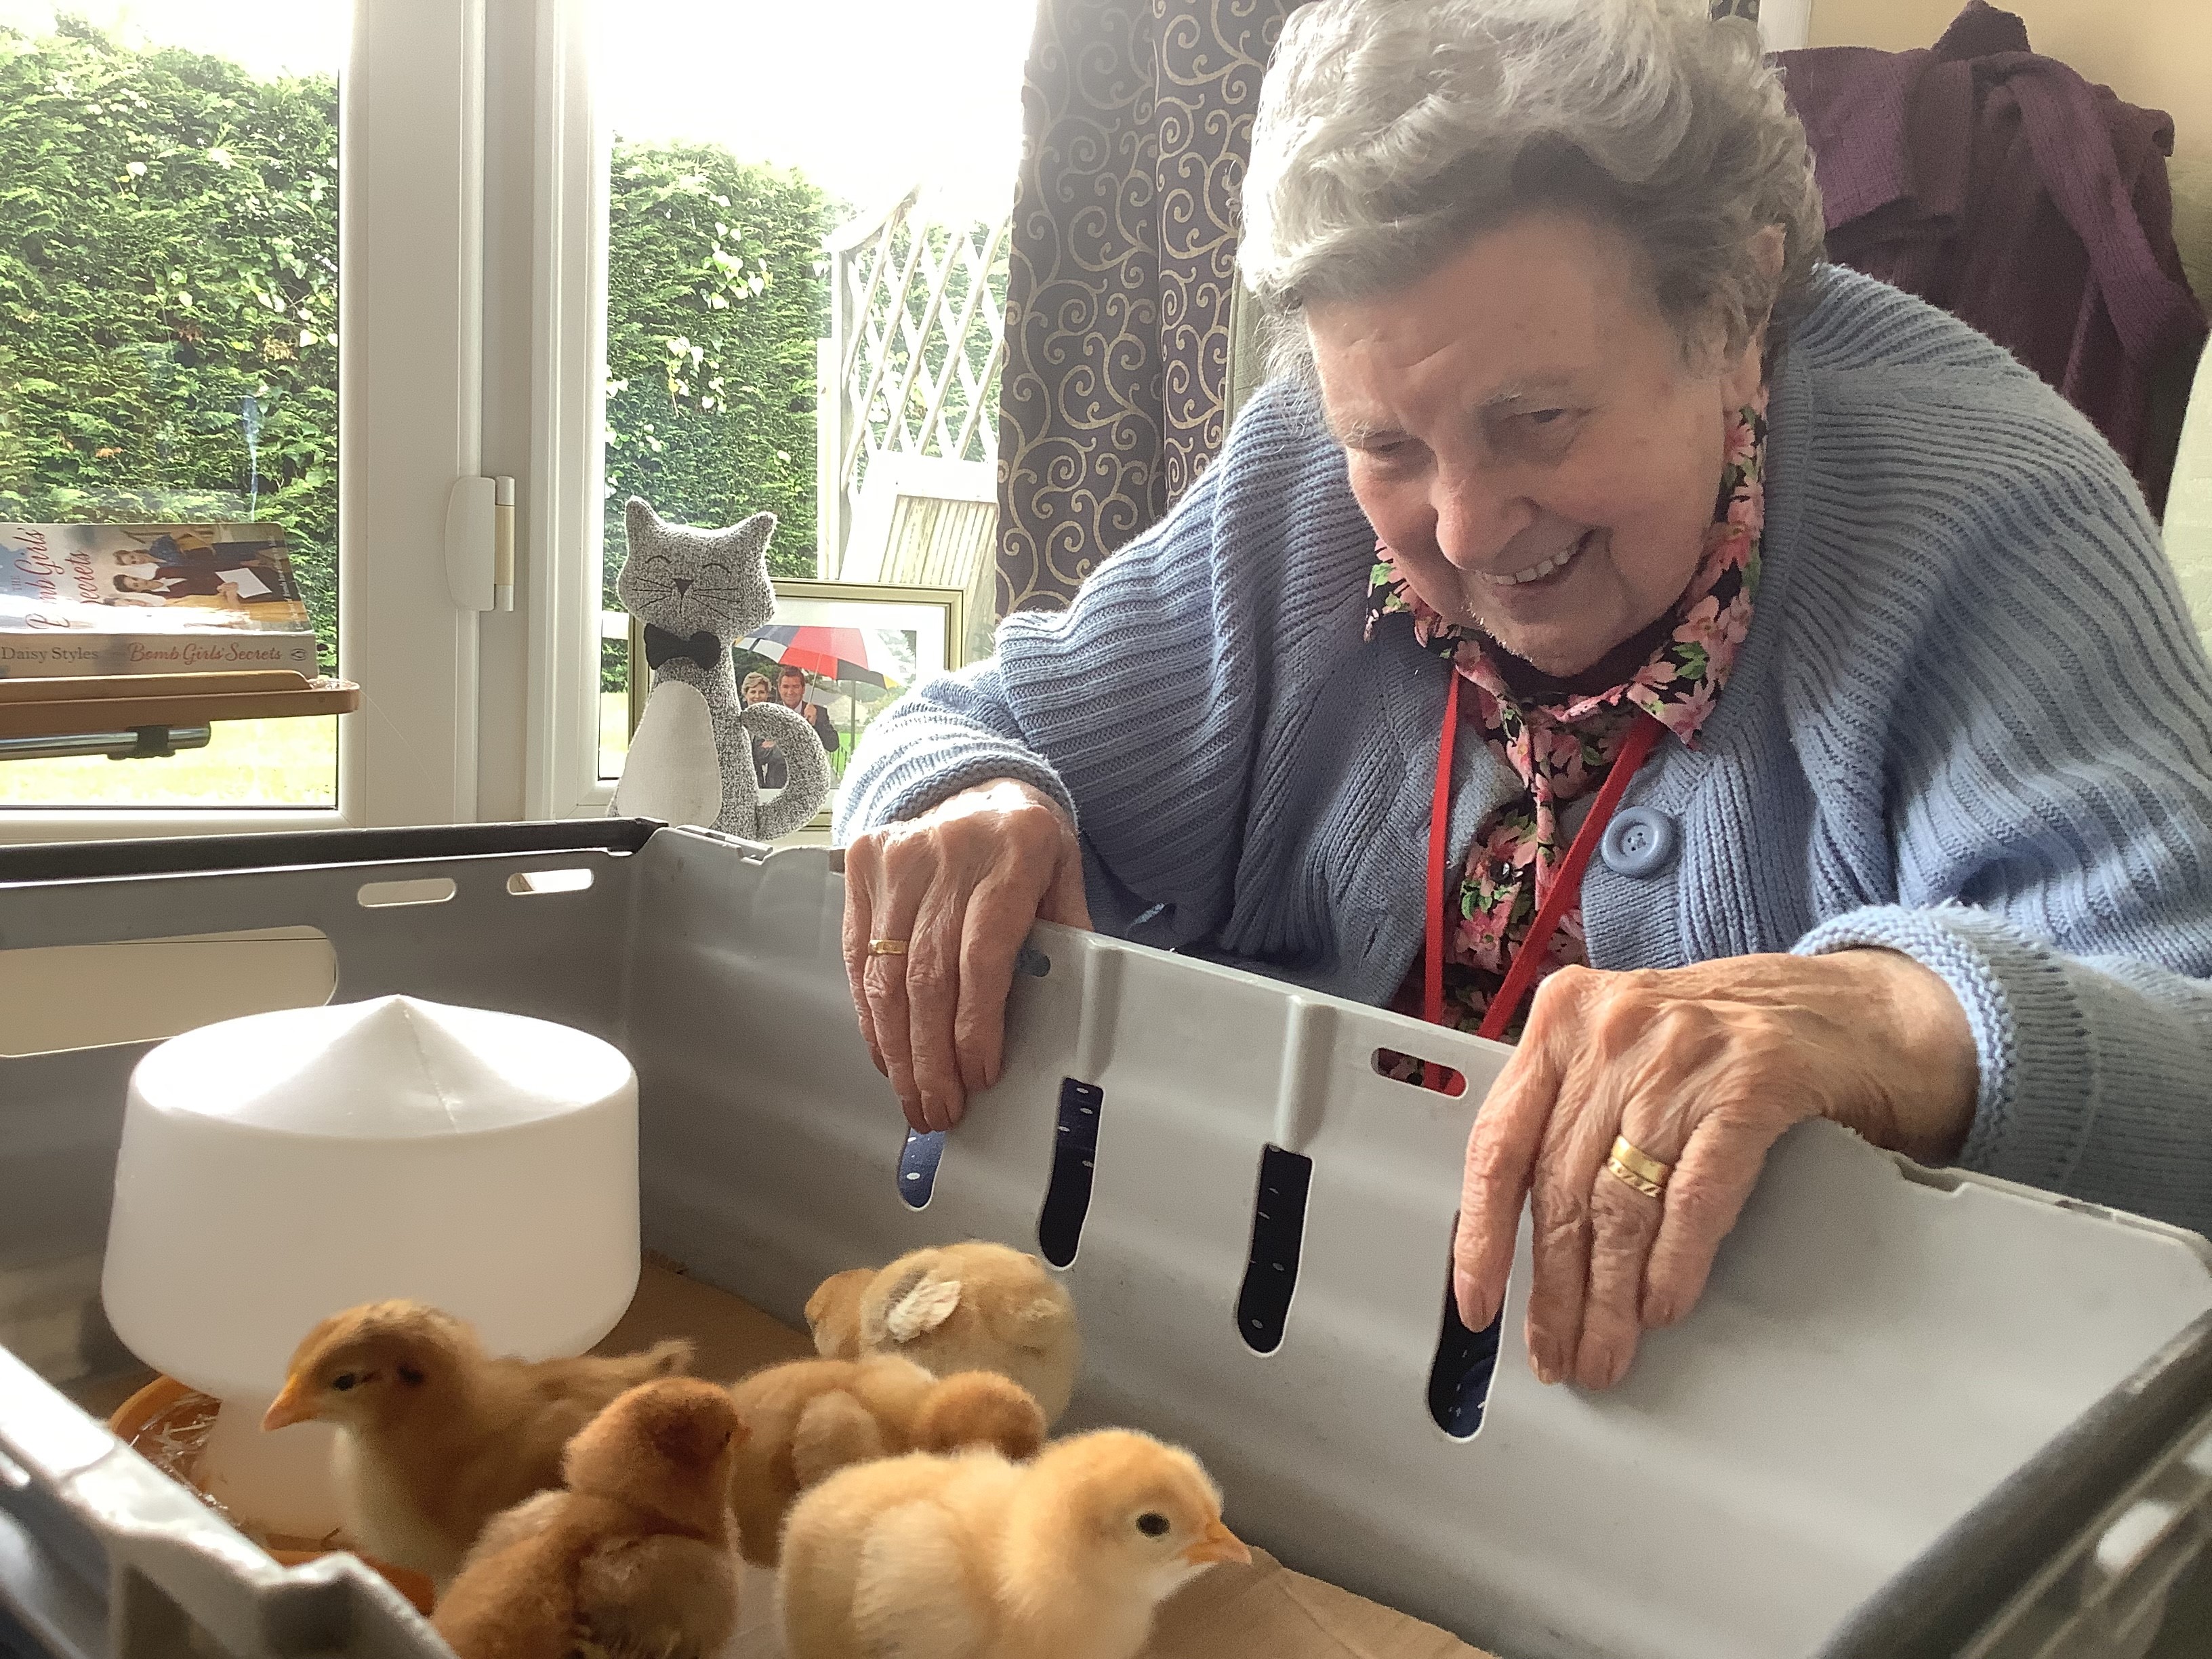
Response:
[[[1893,951],[1562,969],[1537,987],[1467,1141],[1460,1318],[1498,1316],[1531,1197],[1528,1363],[1544,1383],[1610,1387],[1646,1329],[1697,1303],[1785,1128],[1832,1117],[1944,1164],[1978,1086],[1951,987]],[[1606,1168],[1615,1135],[1674,1166],[1661,1197]]]

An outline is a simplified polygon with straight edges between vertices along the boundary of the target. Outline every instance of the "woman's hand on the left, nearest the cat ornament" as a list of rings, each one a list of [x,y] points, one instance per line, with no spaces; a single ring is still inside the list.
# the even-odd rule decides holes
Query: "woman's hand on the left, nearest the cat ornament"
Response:
[[[998,1082],[1013,962],[1040,920],[1091,927],[1091,909],[1075,825],[1029,783],[980,783],[845,849],[852,1002],[914,1128],[951,1128]],[[872,956],[872,940],[907,949]]]

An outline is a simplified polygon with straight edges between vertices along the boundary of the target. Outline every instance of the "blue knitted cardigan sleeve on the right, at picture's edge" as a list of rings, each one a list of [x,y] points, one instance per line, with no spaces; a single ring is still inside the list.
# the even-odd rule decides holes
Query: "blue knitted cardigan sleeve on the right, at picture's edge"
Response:
[[[2119,460],[2059,434],[1986,507],[1891,714],[1887,947],[1951,987],[1964,1168],[2212,1232],[2212,670]]]

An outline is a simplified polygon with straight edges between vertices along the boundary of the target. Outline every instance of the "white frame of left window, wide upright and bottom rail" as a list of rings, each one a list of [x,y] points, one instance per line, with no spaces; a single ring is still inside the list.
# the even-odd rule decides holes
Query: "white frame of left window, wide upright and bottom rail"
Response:
[[[482,179],[484,0],[354,0],[338,86],[338,672],[363,706],[338,721],[338,805],[9,807],[0,843],[478,816],[480,615],[451,602],[445,502],[482,456]]]

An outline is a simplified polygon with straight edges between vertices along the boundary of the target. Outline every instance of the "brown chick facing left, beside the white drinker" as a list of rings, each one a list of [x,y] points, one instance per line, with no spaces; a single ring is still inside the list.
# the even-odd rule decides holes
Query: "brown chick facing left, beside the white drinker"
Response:
[[[487,1520],[560,1484],[577,1429],[624,1389],[684,1371],[690,1352],[533,1365],[484,1354],[436,1307],[367,1303],[307,1332],[261,1427],[336,1425],[347,1540],[442,1588]]]

